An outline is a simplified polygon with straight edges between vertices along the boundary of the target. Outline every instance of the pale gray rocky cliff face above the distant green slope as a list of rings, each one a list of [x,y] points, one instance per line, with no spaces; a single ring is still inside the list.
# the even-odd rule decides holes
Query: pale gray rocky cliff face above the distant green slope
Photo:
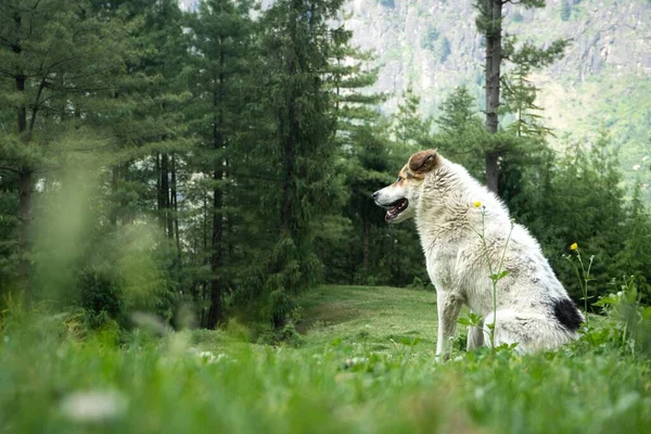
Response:
[[[472,0],[353,0],[346,26],[354,41],[378,53],[384,65],[378,90],[399,95],[408,84],[432,113],[450,87],[481,86],[484,51],[474,23]],[[602,73],[651,77],[651,3],[648,1],[567,2],[548,0],[540,10],[507,5],[505,29],[544,47],[572,39],[566,55],[538,74],[538,80],[567,87]],[[475,89],[477,97],[481,89]],[[396,101],[390,101],[388,107]]]

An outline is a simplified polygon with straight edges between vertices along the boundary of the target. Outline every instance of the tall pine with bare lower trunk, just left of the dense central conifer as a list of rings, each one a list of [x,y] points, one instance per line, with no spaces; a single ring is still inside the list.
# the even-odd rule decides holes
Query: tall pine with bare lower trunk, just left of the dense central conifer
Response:
[[[241,94],[246,78],[247,53],[253,34],[250,2],[207,0],[190,22],[191,40],[195,49],[190,81],[194,94],[189,111],[196,119],[192,129],[201,149],[193,158],[195,167],[209,182],[212,195],[209,267],[212,272],[206,326],[224,322],[224,297],[229,279],[225,272],[225,232],[235,208],[229,203],[229,184],[233,177],[229,167],[241,165],[237,159],[238,131],[246,126],[245,98]],[[207,252],[206,252],[207,253]]]

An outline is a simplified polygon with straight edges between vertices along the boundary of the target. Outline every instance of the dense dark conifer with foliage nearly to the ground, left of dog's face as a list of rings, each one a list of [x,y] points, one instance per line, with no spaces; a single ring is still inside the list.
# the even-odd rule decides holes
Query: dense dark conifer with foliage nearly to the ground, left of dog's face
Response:
[[[333,174],[334,98],[324,81],[333,47],[329,20],[340,8],[340,0],[281,0],[261,20],[261,47],[268,55],[258,79],[272,136],[260,139],[256,153],[280,188],[259,190],[267,204],[261,214],[278,226],[272,252],[256,275],[276,327],[291,310],[290,295],[319,279],[314,226],[342,199]]]

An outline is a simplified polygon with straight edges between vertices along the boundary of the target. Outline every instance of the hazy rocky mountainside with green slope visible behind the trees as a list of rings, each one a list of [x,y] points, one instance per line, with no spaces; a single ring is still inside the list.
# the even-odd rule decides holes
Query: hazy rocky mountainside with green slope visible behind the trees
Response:
[[[197,0],[180,0],[193,8]],[[514,1],[516,3],[516,1]],[[455,86],[465,85],[483,105],[482,37],[473,0],[350,0],[341,20],[354,42],[382,65],[376,91],[390,92],[391,113],[411,86],[423,115],[435,115]],[[506,7],[505,31],[540,47],[571,39],[562,60],[531,78],[557,146],[589,145],[605,128],[620,146],[628,177],[651,178],[651,1],[547,0],[542,9]],[[638,167],[639,166],[639,167]],[[634,167],[637,170],[634,170]],[[637,171],[633,174],[633,171]]]

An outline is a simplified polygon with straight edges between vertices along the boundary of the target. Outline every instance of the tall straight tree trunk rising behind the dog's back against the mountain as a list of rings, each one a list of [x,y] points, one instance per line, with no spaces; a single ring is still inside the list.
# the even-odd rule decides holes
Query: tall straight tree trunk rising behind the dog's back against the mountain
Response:
[[[486,29],[486,129],[494,135],[497,132],[499,122],[497,110],[499,107],[500,90],[502,1],[485,1],[489,4],[489,8],[486,10],[490,14],[486,16],[486,18],[490,20],[490,24]],[[496,194],[499,192],[498,157],[498,151],[486,151],[486,187]]]

